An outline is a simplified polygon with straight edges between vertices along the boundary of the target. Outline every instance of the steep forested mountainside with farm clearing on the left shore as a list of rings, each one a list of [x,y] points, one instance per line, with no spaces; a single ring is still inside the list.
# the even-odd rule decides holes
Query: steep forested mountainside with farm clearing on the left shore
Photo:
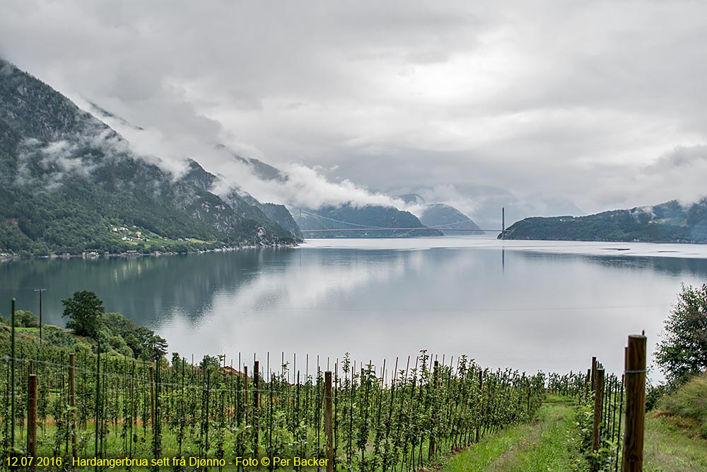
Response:
[[[215,176],[195,161],[181,177],[148,163],[105,123],[1,59],[0,170],[0,252],[296,242],[259,209],[238,213],[209,192]]]

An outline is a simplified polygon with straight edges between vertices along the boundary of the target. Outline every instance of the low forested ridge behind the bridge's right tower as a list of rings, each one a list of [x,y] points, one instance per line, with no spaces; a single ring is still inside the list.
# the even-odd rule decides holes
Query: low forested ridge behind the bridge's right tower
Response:
[[[707,243],[707,198],[690,205],[672,200],[586,217],[526,218],[508,227],[506,238]]]

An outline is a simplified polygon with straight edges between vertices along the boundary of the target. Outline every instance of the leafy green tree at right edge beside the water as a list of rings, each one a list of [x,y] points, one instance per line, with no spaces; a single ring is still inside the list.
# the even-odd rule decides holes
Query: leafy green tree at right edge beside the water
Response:
[[[682,285],[677,305],[665,320],[655,362],[672,383],[707,369],[707,284]]]

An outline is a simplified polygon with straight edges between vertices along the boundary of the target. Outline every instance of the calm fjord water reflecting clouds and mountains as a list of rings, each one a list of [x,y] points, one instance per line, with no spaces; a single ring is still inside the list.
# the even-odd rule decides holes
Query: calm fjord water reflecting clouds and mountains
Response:
[[[682,282],[707,280],[707,247],[498,241],[489,237],[318,239],[298,248],[0,263],[0,312],[63,324],[61,299],[89,289],[107,311],[155,329],[170,352],[225,354],[312,372],[351,352],[374,364],[421,349],[489,367],[568,372],[597,355],[619,372],[626,335],[650,352]],[[168,355],[168,357],[170,357]],[[227,361],[228,362],[228,361]],[[405,362],[405,361],[402,361]],[[660,374],[652,374],[660,379]]]

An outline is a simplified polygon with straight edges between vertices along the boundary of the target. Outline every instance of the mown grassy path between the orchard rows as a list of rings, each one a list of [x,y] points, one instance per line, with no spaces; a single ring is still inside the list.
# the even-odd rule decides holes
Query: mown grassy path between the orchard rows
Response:
[[[545,404],[534,425],[485,439],[450,459],[443,472],[566,472],[571,470],[574,411]]]

